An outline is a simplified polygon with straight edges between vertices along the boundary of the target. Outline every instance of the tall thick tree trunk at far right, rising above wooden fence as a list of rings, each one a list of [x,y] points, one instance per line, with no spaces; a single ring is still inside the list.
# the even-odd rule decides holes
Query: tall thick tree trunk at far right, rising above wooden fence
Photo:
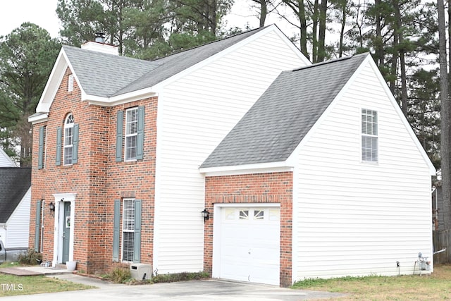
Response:
[[[448,95],[445,6],[443,0],[437,0],[438,42],[440,62],[440,103],[441,133],[440,156],[442,168],[443,226],[451,228],[451,175],[450,175],[450,97]]]

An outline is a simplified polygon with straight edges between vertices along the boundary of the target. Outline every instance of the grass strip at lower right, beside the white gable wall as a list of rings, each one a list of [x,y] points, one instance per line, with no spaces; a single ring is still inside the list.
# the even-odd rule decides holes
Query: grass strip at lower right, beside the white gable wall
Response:
[[[293,288],[349,294],[329,300],[451,300],[451,265],[434,266],[431,275],[309,279]]]

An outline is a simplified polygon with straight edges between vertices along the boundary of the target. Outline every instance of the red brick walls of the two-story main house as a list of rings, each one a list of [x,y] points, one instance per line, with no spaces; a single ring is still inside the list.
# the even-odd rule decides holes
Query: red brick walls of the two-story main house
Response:
[[[156,152],[156,97],[118,106],[97,106],[81,102],[74,82],[68,92],[66,73],[51,104],[49,118],[33,126],[32,206],[30,247],[35,245],[36,202],[45,199],[43,259],[54,257],[54,219],[49,211],[56,193],[76,193],[73,259],[77,269],[95,274],[112,266],[114,199],[142,199],[141,262],[152,264],[154,230],[154,185]],[[133,106],[145,106],[144,159],[116,162],[116,113]],[[56,166],[56,128],[63,127],[68,113],[79,125],[78,163]],[[46,126],[45,168],[37,168],[39,127]],[[125,118],[124,118],[125,129]],[[61,154],[62,157],[62,154]]]

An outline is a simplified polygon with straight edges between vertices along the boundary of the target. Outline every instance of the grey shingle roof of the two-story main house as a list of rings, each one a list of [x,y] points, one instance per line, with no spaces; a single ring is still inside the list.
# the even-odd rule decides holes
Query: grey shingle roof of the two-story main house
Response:
[[[111,97],[152,87],[265,27],[233,35],[154,61],[63,46],[80,85],[89,95]]]

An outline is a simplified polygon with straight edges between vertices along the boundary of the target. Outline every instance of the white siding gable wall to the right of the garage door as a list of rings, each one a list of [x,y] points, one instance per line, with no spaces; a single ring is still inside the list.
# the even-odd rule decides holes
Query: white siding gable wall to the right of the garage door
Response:
[[[378,111],[378,164],[360,160],[364,107]],[[432,258],[429,168],[370,64],[303,145],[297,171],[293,281],[397,275],[396,262],[412,274],[419,252]]]

